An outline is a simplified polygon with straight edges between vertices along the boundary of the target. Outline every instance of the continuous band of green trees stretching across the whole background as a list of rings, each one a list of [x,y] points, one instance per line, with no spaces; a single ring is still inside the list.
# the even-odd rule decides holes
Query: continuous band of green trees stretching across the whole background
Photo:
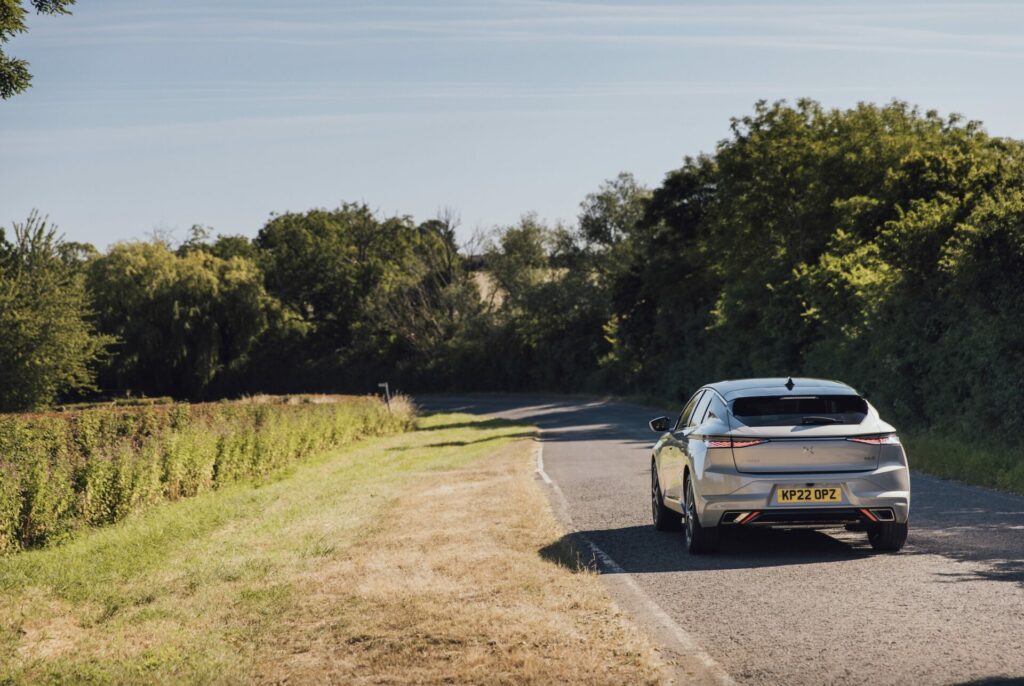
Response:
[[[34,216],[0,238],[0,409],[384,380],[678,402],[821,376],[926,451],[999,436],[957,472],[990,483],[1024,462],[1022,188],[1024,142],[978,122],[800,100],[757,103],[656,187],[610,179],[572,224],[525,214],[468,245],[454,212],[360,204],[102,252]]]

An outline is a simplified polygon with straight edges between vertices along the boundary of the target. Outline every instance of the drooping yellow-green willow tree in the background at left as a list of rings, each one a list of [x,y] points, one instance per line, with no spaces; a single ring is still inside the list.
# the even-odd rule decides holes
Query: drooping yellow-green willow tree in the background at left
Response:
[[[246,367],[276,307],[252,261],[156,242],[114,246],[89,264],[89,286],[119,341],[106,381],[150,395],[205,397]]]

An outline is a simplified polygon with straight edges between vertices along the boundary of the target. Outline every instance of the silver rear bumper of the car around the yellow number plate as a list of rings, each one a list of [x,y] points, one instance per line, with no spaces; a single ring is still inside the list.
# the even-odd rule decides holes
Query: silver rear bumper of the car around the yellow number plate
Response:
[[[754,512],[760,514],[749,519],[750,525],[809,528],[871,521],[872,516],[902,523],[910,514],[910,473],[902,466],[889,465],[871,472],[755,476],[706,473],[703,477],[695,497],[697,515],[706,526],[732,524],[736,521],[733,514]],[[786,486],[835,486],[841,491],[841,501],[799,507],[779,505],[775,491]]]

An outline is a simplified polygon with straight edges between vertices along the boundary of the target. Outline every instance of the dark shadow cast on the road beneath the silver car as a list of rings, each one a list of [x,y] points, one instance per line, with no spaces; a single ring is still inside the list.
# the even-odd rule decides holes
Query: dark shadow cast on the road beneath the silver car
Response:
[[[626,526],[615,529],[577,531],[538,551],[545,559],[575,568],[578,556],[566,555],[567,547],[583,551],[579,559],[601,573],[615,573],[592,559],[587,541],[611,557],[628,573],[751,569],[790,564],[841,563],[871,555],[858,547],[820,531],[737,529],[723,535],[713,555],[690,555],[683,549],[681,532],[656,531],[653,527]],[[566,563],[568,560],[568,563]]]

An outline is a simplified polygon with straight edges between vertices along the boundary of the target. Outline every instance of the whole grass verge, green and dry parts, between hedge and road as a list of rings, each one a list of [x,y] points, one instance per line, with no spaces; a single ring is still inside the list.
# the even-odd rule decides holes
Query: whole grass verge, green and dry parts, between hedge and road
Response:
[[[532,434],[433,416],[0,557],[0,682],[662,681],[586,561],[540,554]]]

